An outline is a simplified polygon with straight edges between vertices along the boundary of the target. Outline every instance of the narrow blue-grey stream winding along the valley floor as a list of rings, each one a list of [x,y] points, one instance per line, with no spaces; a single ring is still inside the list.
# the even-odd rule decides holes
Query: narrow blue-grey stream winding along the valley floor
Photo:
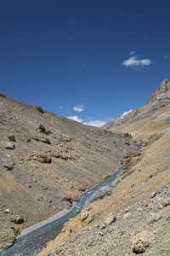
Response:
[[[74,218],[89,203],[96,201],[116,184],[116,177],[122,172],[120,165],[116,172],[107,177],[103,182],[82,193],[81,197],[73,204],[70,210],[59,212],[54,218],[49,218],[42,224],[37,224],[23,231],[12,247],[1,252],[2,256],[33,256],[40,253],[48,241],[54,240],[59,235],[63,225]]]

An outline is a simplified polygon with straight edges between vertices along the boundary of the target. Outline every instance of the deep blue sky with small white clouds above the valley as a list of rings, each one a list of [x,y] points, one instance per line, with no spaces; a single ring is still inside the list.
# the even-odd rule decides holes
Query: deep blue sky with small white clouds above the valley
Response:
[[[170,79],[168,0],[1,0],[0,91],[82,123]]]

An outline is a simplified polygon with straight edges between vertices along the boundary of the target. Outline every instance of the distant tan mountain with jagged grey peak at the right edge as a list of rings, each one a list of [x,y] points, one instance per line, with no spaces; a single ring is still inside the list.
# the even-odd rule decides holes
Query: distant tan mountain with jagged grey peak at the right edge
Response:
[[[130,132],[133,137],[147,141],[150,132],[166,130],[170,124],[170,80],[165,79],[150,96],[149,102],[142,108],[135,108],[102,128],[109,131]],[[153,134],[152,134],[153,136]]]

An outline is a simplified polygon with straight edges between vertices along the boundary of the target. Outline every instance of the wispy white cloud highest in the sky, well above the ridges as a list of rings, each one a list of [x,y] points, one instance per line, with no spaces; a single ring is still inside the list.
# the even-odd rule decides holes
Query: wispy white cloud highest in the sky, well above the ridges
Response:
[[[138,56],[132,56],[128,60],[123,61],[122,65],[135,69],[135,67],[149,66],[151,64],[151,61],[149,59],[144,59],[144,60],[137,60],[137,59],[138,59]]]

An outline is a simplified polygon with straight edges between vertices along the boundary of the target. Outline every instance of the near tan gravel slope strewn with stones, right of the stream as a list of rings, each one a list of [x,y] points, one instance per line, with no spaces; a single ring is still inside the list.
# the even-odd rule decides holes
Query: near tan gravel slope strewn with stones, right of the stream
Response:
[[[138,164],[119,177],[111,196],[86,207],[84,221],[83,212],[71,219],[39,255],[169,255],[169,142],[170,131],[160,132]]]

